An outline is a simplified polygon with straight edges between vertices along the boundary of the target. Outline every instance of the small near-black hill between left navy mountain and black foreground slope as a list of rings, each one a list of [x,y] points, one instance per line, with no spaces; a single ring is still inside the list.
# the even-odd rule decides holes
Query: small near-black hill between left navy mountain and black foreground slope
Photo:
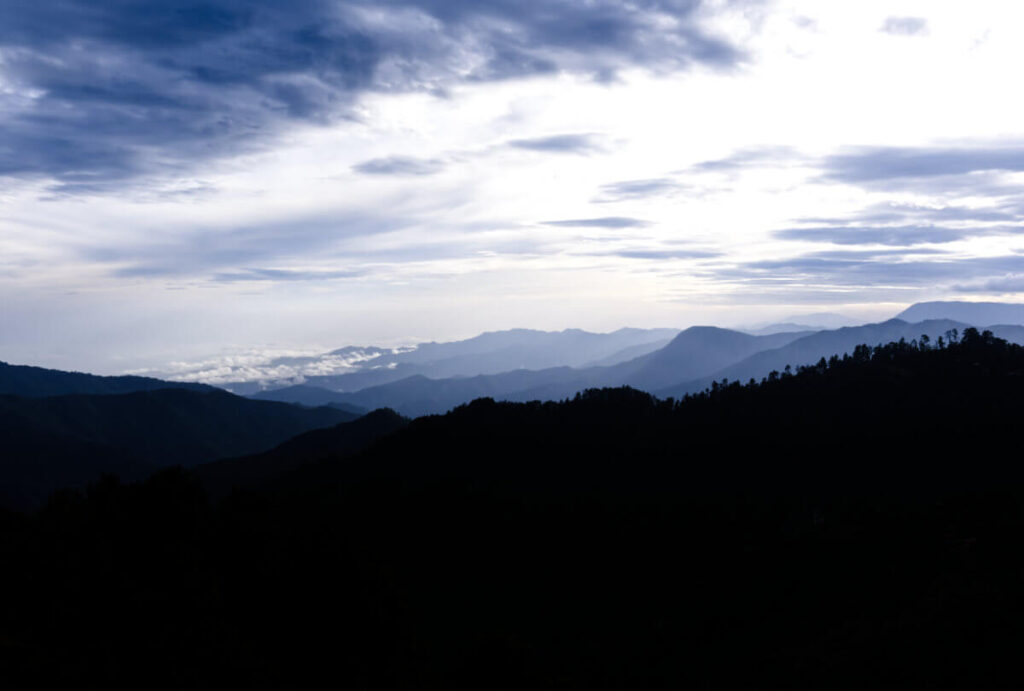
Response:
[[[337,463],[408,424],[409,420],[397,413],[382,408],[334,427],[299,434],[263,454],[202,464],[195,473],[208,491],[223,495],[233,487],[263,485],[323,459]]]

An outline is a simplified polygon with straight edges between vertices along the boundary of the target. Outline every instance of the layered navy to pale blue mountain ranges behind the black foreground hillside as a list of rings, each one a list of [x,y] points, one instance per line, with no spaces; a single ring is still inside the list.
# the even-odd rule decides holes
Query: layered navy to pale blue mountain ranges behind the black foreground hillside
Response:
[[[0,503],[34,506],[58,487],[81,486],[104,472],[136,478],[161,467],[210,462],[272,468],[272,449],[291,443],[296,435],[318,438],[321,432],[314,430],[325,430],[328,438],[337,439],[337,448],[355,448],[375,438],[358,430],[392,431],[403,418],[442,414],[477,398],[561,400],[586,389],[621,386],[679,398],[722,380],[761,380],[787,365],[841,356],[861,344],[909,342],[923,335],[935,342],[996,316],[1018,315],[1024,321],[1020,307],[925,303],[903,314],[949,313],[965,320],[893,318],[810,332],[771,333],[766,328],[762,335],[716,327],[681,332],[624,329],[611,334],[514,330],[401,352],[348,347],[333,352],[382,364],[347,375],[309,377],[303,384],[254,392],[251,398],[206,384],[0,362],[0,440],[6,458]],[[1019,321],[988,329],[1012,343],[1024,343]],[[510,363],[516,365],[492,372]],[[375,380],[377,384],[357,390],[330,388],[339,381],[349,386]],[[378,408],[392,412],[345,427]],[[338,425],[341,428],[334,429]],[[362,441],[345,441],[348,437]],[[254,460],[264,454],[271,457]],[[286,455],[294,456],[292,450]],[[243,458],[250,461],[237,461]]]

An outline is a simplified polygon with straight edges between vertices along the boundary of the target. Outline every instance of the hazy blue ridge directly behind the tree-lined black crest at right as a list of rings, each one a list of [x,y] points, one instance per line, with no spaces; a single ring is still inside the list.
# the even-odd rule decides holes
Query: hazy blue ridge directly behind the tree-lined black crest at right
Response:
[[[813,364],[820,358],[842,355],[852,352],[860,344],[876,345],[890,341],[907,341],[927,334],[932,340],[937,340],[947,331],[956,329],[963,331],[967,325],[947,319],[933,319],[909,323],[902,319],[889,319],[880,323],[869,323],[862,327],[844,327],[835,331],[821,331],[802,338],[779,348],[755,353],[742,360],[730,364],[715,373],[690,381],[682,381],[672,386],[663,386],[653,393],[658,396],[678,397],[687,393],[701,391],[715,381],[745,382],[750,379],[760,380],[773,370],[782,372],[786,365],[797,368],[802,364]]]

